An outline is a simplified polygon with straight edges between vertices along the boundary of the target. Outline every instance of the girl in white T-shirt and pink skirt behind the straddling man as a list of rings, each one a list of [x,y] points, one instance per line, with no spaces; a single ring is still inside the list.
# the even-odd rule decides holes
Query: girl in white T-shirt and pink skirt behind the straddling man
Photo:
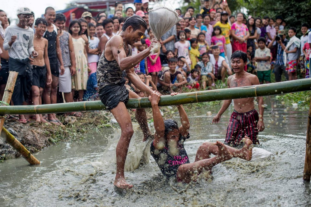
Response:
[[[87,62],[89,64],[89,76],[92,73],[95,73],[97,70],[97,64],[99,61],[100,51],[98,49],[99,38],[95,37],[95,25],[92,23],[88,24],[89,26],[89,52],[87,53]]]

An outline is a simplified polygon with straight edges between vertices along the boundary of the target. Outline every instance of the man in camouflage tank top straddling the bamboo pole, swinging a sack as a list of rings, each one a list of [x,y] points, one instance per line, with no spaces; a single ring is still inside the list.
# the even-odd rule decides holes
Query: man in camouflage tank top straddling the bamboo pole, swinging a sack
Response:
[[[128,146],[133,135],[131,117],[125,104],[129,98],[139,98],[131,90],[124,86],[125,79],[121,76],[122,71],[126,71],[128,79],[140,91],[148,95],[159,93],[151,90],[141,81],[134,72],[134,65],[150,55],[150,49],[156,41],[151,41],[150,47],[132,55],[131,45],[140,41],[147,29],[146,21],[137,15],[129,17],[123,24],[122,31],[109,39],[102,53],[97,67],[97,81],[99,97],[108,110],[114,115],[121,128],[121,137],[116,148],[117,171],[114,185],[118,188],[131,188],[133,185],[128,184],[124,179],[124,164],[128,153]],[[135,117],[142,128],[144,141],[151,136],[148,128],[145,109],[136,109]]]

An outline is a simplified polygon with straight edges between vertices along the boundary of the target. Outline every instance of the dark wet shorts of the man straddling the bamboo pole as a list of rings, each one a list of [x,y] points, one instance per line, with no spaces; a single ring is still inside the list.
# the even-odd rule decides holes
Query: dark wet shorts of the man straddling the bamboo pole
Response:
[[[125,104],[128,102],[128,90],[125,88],[124,83],[107,85],[99,90],[99,97],[101,102],[108,110],[114,109],[122,101]]]

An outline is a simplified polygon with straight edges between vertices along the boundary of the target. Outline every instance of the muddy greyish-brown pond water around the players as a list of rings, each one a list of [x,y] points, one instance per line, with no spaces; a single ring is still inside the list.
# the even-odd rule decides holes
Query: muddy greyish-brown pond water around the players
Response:
[[[217,125],[206,115],[207,111],[215,115],[219,107],[188,113],[191,137],[185,148],[191,162],[200,144],[224,140],[232,106]],[[310,184],[302,180],[308,113],[273,103],[267,108],[266,129],[259,140],[261,148],[274,154],[268,160],[234,158],[213,167],[211,179],[183,185],[164,180],[151,158],[145,166],[125,173],[134,187],[120,191],[113,186],[115,169],[93,164],[112,159],[102,156],[114,129],[103,128],[80,142],[44,149],[35,155],[41,161],[38,166],[23,158],[0,164],[0,206],[310,206]]]

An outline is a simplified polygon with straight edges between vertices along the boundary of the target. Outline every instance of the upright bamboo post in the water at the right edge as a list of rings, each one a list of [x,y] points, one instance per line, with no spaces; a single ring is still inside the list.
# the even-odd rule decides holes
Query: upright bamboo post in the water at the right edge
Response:
[[[308,115],[306,157],[304,160],[304,177],[303,177],[303,179],[306,181],[310,181],[310,177],[311,177],[311,100],[310,100],[309,115]]]

